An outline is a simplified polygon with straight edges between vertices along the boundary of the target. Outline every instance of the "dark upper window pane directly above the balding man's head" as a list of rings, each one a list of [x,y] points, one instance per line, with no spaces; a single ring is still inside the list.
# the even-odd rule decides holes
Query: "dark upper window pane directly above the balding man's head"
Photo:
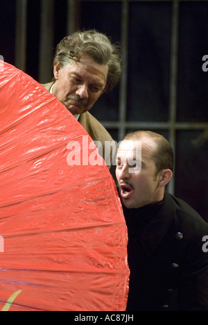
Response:
[[[128,121],[168,120],[171,2],[130,3]]]

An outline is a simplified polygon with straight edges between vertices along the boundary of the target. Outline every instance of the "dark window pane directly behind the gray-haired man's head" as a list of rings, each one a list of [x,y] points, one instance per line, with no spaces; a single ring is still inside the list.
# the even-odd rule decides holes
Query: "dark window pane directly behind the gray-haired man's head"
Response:
[[[120,1],[80,1],[80,28],[105,33],[113,43],[121,42]],[[119,119],[119,86],[103,94],[90,113],[100,121]]]

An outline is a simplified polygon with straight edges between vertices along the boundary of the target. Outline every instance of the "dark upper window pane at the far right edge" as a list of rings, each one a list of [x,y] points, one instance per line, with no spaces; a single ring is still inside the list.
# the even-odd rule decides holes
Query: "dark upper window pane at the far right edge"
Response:
[[[208,72],[202,57],[208,55],[208,2],[180,3],[177,120],[208,121]]]

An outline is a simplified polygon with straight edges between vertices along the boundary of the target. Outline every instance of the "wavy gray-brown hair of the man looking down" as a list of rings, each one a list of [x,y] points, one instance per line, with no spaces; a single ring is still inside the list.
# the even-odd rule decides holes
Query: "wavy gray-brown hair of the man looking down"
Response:
[[[112,90],[121,76],[121,47],[112,44],[103,33],[95,30],[76,31],[63,38],[56,47],[53,65],[67,65],[71,59],[79,61],[83,54],[100,65],[108,65],[105,90]]]

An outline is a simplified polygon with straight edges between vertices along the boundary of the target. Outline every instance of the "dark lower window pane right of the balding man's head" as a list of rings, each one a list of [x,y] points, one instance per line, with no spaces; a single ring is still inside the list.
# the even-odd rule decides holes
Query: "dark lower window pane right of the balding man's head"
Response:
[[[208,130],[178,131],[175,154],[175,195],[208,222]]]

